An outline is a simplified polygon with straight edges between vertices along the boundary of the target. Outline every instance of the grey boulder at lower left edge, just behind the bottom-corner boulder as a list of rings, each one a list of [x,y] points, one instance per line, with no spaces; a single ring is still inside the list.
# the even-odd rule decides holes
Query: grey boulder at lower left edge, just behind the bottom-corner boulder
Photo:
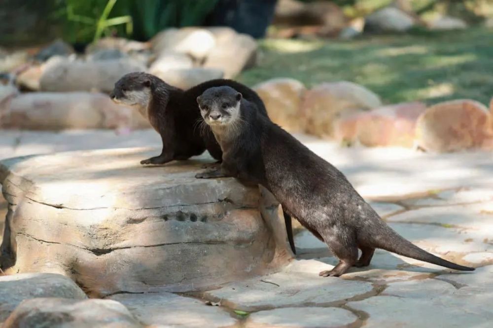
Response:
[[[0,276],[0,323],[23,300],[47,297],[87,298],[70,278],[61,274],[20,273]]]

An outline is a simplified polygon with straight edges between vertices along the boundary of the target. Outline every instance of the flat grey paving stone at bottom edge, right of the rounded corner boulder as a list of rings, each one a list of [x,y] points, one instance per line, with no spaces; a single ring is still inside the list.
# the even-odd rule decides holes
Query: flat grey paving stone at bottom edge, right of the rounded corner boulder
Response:
[[[110,298],[124,304],[141,323],[150,327],[225,328],[237,324],[220,306],[171,293],[119,294]]]

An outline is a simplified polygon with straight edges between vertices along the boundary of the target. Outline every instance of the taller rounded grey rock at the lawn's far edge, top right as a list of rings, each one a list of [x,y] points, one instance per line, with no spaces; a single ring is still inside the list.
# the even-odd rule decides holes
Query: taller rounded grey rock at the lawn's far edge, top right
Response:
[[[411,15],[395,7],[377,10],[365,19],[365,31],[370,32],[405,32],[414,25]]]

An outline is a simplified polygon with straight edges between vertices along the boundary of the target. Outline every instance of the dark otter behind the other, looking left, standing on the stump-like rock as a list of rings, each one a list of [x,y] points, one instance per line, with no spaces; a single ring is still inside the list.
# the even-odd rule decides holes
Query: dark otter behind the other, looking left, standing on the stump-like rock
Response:
[[[217,86],[231,86],[240,90],[254,103],[258,114],[267,118],[267,110],[258,94],[245,85],[225,79],[210,80],[188,90],[175,88],[157,76],[135,72],[124,75],[115,83],[110,98],[117,104],[136,107],[161,135],[163,148],[159,156],[141,161],[141,164],[165,164],[173,160],[186,160],[202,154],[206,149],[219,164],[222,150],[211,129],[202,119],[197,97],[205,90]],[[204,167],[211,166],[206,164]],[[284,213],[289,245],[294,254],[291,217]]]

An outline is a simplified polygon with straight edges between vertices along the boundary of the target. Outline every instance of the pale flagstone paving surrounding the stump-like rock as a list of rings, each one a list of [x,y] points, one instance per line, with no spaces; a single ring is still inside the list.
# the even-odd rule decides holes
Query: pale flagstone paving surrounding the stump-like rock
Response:
[[[341,149],[299,137],[340,168],[399,234],[476,271],[457,272],[379,250],[368,268],[353,268],[341,278],[321,278],[318,271],[337,261],[323,243],[297,228],[297,259],[281,272],[205,292],[109,298],[125,305],[139,327],[491,327],[493,153]],[[0,157],[114,145],[156,146],[159,140],[151,131],[129,136],[47,133],[43,138],[36,133],[0,133]],[[0,280],[0,290],[3,287]],[[115,318],[128,317],[118,311]],[[126,327],[138,327],[133,318],[126,319]]]

